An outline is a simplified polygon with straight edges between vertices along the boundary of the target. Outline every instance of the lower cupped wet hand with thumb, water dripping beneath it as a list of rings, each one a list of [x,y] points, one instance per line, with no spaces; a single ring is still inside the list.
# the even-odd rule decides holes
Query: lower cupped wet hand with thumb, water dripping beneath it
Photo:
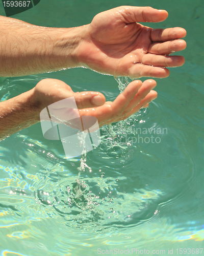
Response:
[[[94,116],[98,120],[99,126],[117,122],[132,114],[138,112],[143,106],[146,108],[148,102],[157,98],[157,92],[152,91],[156,87],[155,80],[146,80],[143,83],[140,80],[131,82],[113,102],[105,102],[105,96],[98,92],[77,92],[74,93],[71,88],[63,81],[57,79],[43,79],[34,89],[34,105],[38,105],[39,112],[46,106],[55,104],[54,114],[56,122],[58,119],[66,119],[70,116],[70,111],[79,112],[80,116]],[[96,101],[94,101],[94,97]],[[74,97],[78,109],[70,109],[67,105],[60,103],[60,100]],[[53,119],[53,118],[52,118]],[[66,120],[65,120],[66,121]],[[63,122],[74,128],[77,123]]]

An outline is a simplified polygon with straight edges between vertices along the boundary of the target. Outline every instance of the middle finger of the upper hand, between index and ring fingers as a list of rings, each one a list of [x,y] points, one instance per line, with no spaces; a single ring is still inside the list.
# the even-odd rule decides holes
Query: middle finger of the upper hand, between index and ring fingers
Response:
[[[186,42],[180,39],[167,42],[155,42],[154,44],[150,45],[148,52],[159,55],[166,55],[172,52],[182,51],[184,49],[186,49]]]

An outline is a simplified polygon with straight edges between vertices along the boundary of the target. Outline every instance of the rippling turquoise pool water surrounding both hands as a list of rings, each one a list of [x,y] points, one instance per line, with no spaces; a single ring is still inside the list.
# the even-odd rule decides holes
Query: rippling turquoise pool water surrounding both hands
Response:
[[[120,142],[101,128],[101,144],[87,154],[91,172],[80,177],[81,196],[75,189],[81,157],[67,160],[59,141],[43,138],[40,124],[0,142],[1,255],[98,255],[98,248],[155,255],[189,248],[186,254],[194,255],[192,248],[204,247],[203,2],[41,0],[14,17],[72,27],[120,5],[166,9],[168,19],[154,27],[187,30],[186,63],[156,79],[158,98],[148,109],[114,124]],[[42,78],[61,79],[74,91],[100,91],[107,100],[119,93],[112,76],[72,69],[2,79],[0,99],[30,90]]]

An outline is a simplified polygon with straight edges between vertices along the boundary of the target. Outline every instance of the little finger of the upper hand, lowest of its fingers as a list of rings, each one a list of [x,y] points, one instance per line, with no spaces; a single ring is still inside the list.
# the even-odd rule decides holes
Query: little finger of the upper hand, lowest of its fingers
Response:
[[[142,63],[136,63],[128,70],[130,78],[139,77],[158,77],[164,78],[169,76],[169,70],[166,68],[152,67]]]

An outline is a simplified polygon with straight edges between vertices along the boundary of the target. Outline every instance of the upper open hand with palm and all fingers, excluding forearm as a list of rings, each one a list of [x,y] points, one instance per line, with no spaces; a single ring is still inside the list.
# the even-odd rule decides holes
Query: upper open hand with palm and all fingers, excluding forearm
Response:
[[[167,11],[151,7],[122,6],[97,14],[87,25],[78,61],[82,66],[114,77],[167,77],[166,67],[179,67],[184,50],[183,28],[152,29],[137,22],[162,22]]]

